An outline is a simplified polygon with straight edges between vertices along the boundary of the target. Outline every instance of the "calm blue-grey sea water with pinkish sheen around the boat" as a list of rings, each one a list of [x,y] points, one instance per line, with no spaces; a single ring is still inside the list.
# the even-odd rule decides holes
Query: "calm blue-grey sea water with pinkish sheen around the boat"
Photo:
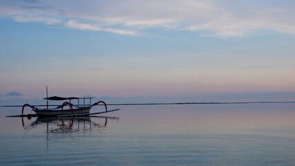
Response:
[[[295,165],[295,103],[117,108],[28,119],[0,107],[0,165]]]

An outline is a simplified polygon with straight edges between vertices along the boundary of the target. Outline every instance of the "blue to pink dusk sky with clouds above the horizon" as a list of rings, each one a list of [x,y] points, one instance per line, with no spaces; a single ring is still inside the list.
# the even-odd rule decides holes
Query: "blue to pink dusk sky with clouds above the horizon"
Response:
[[[46,86],[78,97],[295,100],[294,8],[293,0],[1,0],[0,100],[44,98]]]

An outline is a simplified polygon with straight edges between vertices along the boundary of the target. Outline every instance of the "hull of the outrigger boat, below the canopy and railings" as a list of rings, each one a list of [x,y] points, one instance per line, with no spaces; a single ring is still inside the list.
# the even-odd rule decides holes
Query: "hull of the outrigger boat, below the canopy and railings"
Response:
[[[73,113],[71,109],[64,109],[64,110],[32,110],[37,113],[38,116],[62,116],[62,115],[71,115],[77,113],[89,113],[91,108],[86,109],[74,109]]]

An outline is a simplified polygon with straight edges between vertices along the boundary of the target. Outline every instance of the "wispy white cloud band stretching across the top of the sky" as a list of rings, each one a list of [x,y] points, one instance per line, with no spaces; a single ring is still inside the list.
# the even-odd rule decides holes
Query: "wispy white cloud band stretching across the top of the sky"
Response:
[[[62,18],[70,28],[122,35],[137,35],[135,28],[166,28],[199,32],[202,36],[243,37],[264,29],[295,34],[294,8],[295,2],[287,0],[3,0],[0,16],[46,24],[59,24],[61,19],[56,18]]]

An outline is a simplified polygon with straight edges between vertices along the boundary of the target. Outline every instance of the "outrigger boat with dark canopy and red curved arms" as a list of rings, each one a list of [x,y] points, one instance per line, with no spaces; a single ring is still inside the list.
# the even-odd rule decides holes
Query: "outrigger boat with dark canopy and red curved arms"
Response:
[[[38,108],[35,106],[31,106],[30,104],[23,104],[23,108],[21,109],[21,116],[23,116],[23,109],[25,107],[32,108],[32,111],[35,111],[37,116],[89,116],[89,115],[95,115],[99,113],[107,113],[111,111],[120,110],[120,109],[113,109],[108,111],[106,103],[104,101],[99,101],[99,102],[95,102],[94,104],[91,104],[91,99],[93,98],[76,98],[76,97],[62,98],[62,97],[53,96],[53,97],[50,97],[50,98],[47,97],[44,99],[47,100],[47,108]],[[48,100],[69,100],[69,102],[64,102],[60,106],[49,108]],[[78,104],[71,103],[71,100],[78,100]],[[83,104],[79,104],[79,100],[83,100]],[[85,104],[85,100],[89,100],[89,104]],[[91,110],[91,107],[99,103],[104,104],[106,111],[89,113]],[[69,106],[69,109],[64,109],[64,107],[67,105]]]

